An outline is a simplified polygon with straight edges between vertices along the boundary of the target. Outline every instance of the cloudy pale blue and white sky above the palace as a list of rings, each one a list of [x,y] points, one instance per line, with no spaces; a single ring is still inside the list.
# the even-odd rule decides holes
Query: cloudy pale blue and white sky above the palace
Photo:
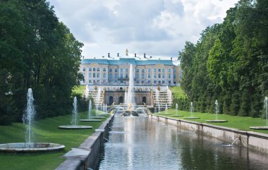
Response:
[[[237,0],[49,0],[59,20],[84,43],[85,58],[129,54],[177,57],[221,23]]]

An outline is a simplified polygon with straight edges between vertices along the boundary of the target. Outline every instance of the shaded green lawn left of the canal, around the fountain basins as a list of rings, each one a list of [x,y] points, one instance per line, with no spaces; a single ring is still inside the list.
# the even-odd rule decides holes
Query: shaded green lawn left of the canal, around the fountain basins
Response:
[[[80,119],[86,119],[87,113],[79,114]],[[108,117],[108,116],[107,116]],[[79,125],[93,126],[92,129],[84,130],[62,130],[58,126],[71,125],[72,115],[56,116],[34,122],[34,142],[54,142],[65,145],[60,152],[16,154],[0,152],[0,169],[13,170],[49,170],[56,169],[65,158],[63,154],[78,147],[84,140],[95,132],[102,122],[79,122]],[[102,119],[104,121],[105,119]],[[12,126],[0,126],[0,143],[24,142],[25,126],[23,123],[13,123]]]

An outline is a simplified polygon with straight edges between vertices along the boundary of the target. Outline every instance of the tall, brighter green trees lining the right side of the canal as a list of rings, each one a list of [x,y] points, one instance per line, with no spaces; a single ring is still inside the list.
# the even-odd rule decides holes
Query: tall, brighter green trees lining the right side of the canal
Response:
[[[181,87],[198,111],[212,113],[218,99],[221,114],[260,116],[268,94],[268,3],[240,0],[226,13],[179,52]]]

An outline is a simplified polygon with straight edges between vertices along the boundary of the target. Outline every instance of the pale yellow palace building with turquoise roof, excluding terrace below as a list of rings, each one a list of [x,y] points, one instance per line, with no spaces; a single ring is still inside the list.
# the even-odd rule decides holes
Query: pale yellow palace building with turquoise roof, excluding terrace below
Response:
[[[134,85],[178,85],[181,69],[172,59],[153,59],[134,56],[111,57],[102,59],[83,59],[80,72],[85,80],[82,85],[128,85],[129,68],[133,65]]]

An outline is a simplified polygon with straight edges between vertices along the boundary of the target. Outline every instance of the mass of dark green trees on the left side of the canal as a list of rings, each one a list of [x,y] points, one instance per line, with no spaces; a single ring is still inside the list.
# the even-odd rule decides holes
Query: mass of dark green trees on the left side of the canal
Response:
[[[21,121],[30,87],[35,118],[70,113],[81,47],[47,1],[0,1],[0,124]]]

